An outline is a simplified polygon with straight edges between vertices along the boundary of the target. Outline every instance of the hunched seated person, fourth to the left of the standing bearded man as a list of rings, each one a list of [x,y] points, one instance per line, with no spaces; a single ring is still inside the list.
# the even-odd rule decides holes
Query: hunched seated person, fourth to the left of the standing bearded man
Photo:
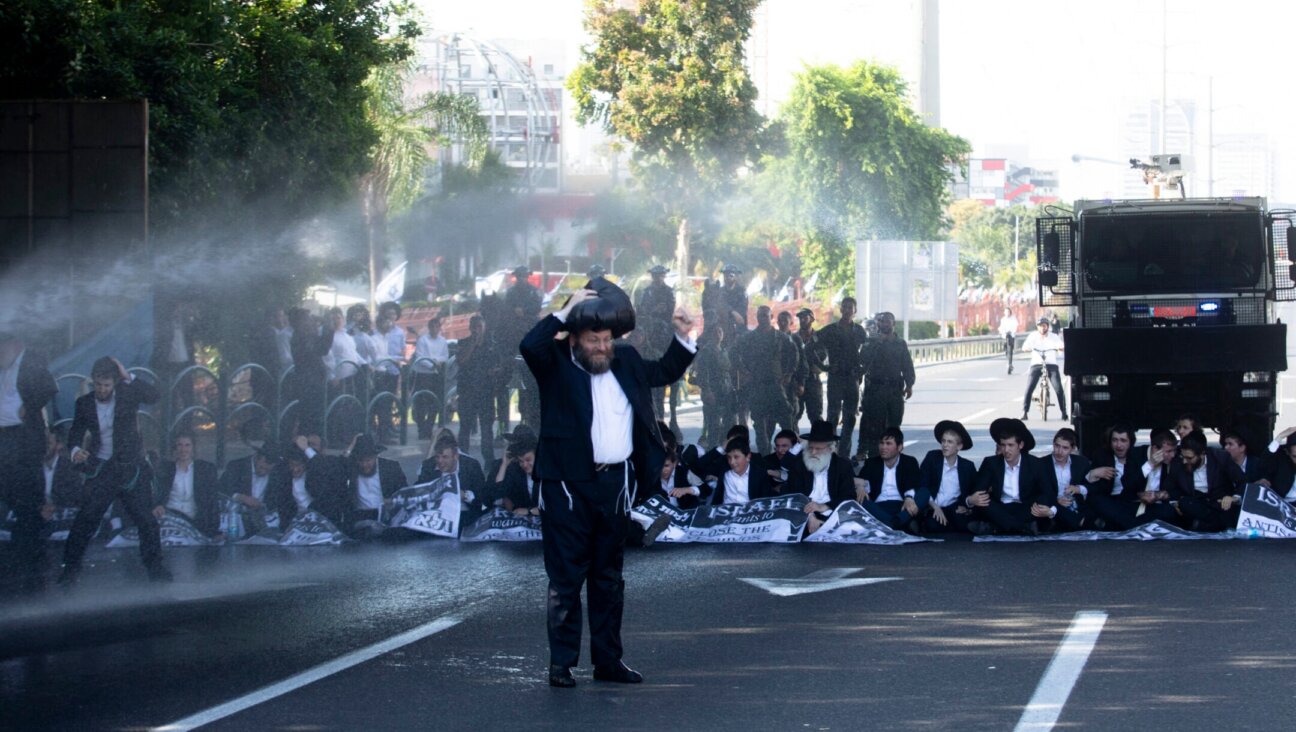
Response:
[[[314,444],[312,444],[314,443]],[[285,468],[279,477],[271,475],[267,495],[272,495],[279,510],[279,527],[288,525],[307,510],[328,518],[342,527],[347,510],[346,473],[340,457],[318,452],[319,437],[297,437],[284,448]],[[276,485],[277,483],[277,485]]]

